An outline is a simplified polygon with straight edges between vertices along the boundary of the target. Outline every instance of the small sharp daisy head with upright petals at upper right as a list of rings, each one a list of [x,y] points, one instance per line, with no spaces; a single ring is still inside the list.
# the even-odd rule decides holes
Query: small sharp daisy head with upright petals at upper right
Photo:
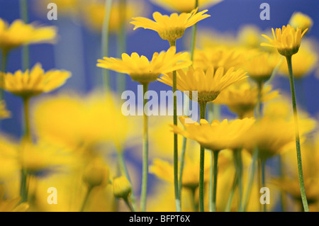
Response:
[[[269,38],[267,35],[262,35],[264,38],[269,40],[269,43],[262,43],[262,46],[275,47],[281,55],[291,56],[298,52],[301,45],[301,38],[307,32],[307,28],[301,32],[301,28],[293,28],[290,25],[282,26],[281,28],[276,28],[276,33],[274,28],[272,28],[272,35],[274,39]]]

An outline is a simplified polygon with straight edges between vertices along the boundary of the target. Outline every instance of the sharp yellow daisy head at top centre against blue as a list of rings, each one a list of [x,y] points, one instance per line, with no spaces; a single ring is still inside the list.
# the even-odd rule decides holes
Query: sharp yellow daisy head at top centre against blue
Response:
[[[162,15],[159,12],[153,13],[152,21],[148,18],[136,17],[133,18],[134,21],[130,22],[135,25],[134,30],[137,28],[145,28],[150,30],[155,30],[159,36],[168,40],[169,43],[176,41],[184,35],[186,28],[193,26],[198,21],[208,18],[210,15],[203,14],[207,10],[197,13],[198,8],[191,11],[191,13],[172,13],[170,16]]]

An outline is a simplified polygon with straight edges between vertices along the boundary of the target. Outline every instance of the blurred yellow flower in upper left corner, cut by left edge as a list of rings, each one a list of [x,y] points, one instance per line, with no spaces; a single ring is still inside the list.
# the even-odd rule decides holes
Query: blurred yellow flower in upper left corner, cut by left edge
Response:
[[[4,52],[33,43],[52,43],[55,41],[57,30],[52,26],[35,26],[16,20],[9,26],[0,18],[0,48]]]

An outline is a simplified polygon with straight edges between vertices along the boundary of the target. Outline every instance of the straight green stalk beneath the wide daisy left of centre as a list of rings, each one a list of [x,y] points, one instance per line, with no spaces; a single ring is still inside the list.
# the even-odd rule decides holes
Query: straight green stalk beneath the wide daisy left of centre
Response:
[[[143,153],[142,153],[142,189],[140,193],[140,209],[142,212],[146,210],[147,196],[147,174],[148,174],[148,116],[147,109],[144,108],[147,103],[145,94],[148,89],[148,83],[143,85]]]

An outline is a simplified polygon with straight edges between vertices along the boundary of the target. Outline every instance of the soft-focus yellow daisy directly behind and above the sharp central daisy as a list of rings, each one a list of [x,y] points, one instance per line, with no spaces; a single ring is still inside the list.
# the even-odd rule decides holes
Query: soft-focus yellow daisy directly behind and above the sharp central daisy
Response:
[[[195,50],[193,67],[201,67],[204,70],[208,67],[224,67],[225,71],[228,71],[231,67],[240,68],[244,62],[242,52],[235,48],[206,47],[203,50]]]

